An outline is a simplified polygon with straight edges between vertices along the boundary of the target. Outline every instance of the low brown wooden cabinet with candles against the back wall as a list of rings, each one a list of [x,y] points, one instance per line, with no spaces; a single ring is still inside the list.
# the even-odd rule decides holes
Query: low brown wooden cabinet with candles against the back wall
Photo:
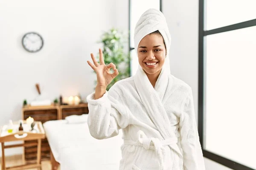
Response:
[[[41,107],[24,107],[22,109],[23,120],[26,120],[29,116],[34,118],[35,121],[42,123],[49,120],[60,120],[70,115],[81,115],[88,114],[87,104],[80,105],[52,105],[52,106],[41,106]],[[35,141],[25,141],[25,143],[33,143]],[[36,146],[24,147],[24,158],[26,162],[36,161],[37,150]],[[41,159],[50,159],[50,147],[47,139],[42,139],[41,147]]]

